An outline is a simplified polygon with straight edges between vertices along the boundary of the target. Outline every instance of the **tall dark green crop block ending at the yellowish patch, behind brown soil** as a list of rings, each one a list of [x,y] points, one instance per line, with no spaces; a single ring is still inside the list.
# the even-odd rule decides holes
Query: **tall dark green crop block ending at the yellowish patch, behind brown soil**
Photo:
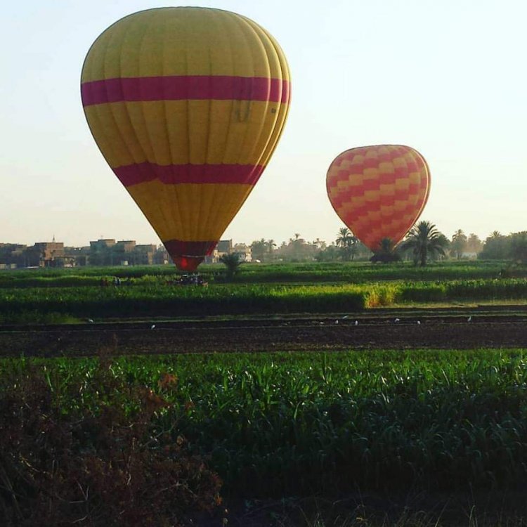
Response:
[[[360,311],[367,288],[356,285],[293,287],[67,287],[1,289],[0,320],[27,312],[73,317],[178,317],[251,313]]]

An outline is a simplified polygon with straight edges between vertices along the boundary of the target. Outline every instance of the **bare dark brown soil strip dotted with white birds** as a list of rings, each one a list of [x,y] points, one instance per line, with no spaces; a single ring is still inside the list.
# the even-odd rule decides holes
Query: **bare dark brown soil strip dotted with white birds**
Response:
[[[396,315],[0,328],[0,356],[527,348],[527,315]],[[357,321],[357,323],[356,323]],[[151,329],[152,324],[155,327]]]

